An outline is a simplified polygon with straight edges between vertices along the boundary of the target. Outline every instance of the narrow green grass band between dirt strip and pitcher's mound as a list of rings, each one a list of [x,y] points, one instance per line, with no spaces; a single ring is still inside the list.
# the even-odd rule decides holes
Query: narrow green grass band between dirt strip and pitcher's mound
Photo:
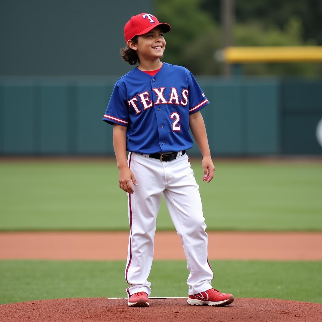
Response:
[[[235,297],[322,303],[322,262],[211,261],[213,287]],[[0,304],[51,298],[126,297],[124,261],[0,261]],[[185,261],[157,261],[151,296],[187,296]]]

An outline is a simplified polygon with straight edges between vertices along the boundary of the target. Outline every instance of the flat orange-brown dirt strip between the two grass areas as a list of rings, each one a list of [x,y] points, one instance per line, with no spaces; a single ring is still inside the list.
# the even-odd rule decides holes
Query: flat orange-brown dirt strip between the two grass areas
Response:
[[[210,260],[322,260],[321,232],[208,232],[208,236]],[[0,259],[126,260],[127,253],[128,232],[0,233]],[[156,232],[154,259],[185,259],[175,232]]]

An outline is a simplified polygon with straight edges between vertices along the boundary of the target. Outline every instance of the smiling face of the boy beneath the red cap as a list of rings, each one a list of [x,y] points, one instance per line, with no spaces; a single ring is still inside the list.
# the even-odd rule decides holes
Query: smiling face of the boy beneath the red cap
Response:
[[[162,29],[156,27],[148,33],[138,36],[137,44],[132,44],[132,46],[130,48],[137,50],[140,61],[142,59],[155,60],[162,57],[166,48],[166,41],[163,38]]]

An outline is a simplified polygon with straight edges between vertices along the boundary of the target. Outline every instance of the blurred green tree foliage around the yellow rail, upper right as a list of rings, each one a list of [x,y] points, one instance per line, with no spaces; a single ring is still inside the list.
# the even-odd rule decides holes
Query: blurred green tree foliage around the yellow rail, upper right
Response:
[[[214,59],[223,48],[219,0],[163,0],[156,2],[160,22],[172,31],[165,34],[166,62],[183,65],[194,74],[220,75],[223,64]],[[314,5],[310,7],[310,5]],[[322,1],[235,0],[236,46],[302,46],[322,44]],[[318,28],[317,28],[318,27]],[[321,36],[321,37],[320,37]],[[245,64],[250,75],[322,74],[317,63]]]

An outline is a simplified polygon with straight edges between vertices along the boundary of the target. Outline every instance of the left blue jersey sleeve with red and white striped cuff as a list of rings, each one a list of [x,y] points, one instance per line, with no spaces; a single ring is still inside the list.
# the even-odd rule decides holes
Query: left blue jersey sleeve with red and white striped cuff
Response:
[[[109,124],[128,126],[128,104],[127,95],[118,85],[114,86],[109,104],[103,117],[103,121]]]

